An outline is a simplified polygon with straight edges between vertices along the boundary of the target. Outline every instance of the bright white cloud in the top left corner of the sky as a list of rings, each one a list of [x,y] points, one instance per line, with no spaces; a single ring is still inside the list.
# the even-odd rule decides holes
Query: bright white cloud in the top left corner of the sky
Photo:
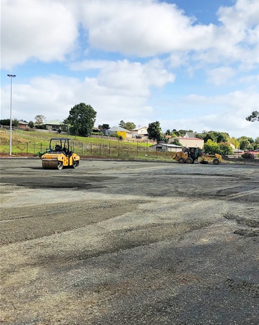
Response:
[[[75,46],[77,21],[57,1],[1,1],[1,68],[28,59],[63,61]]]

